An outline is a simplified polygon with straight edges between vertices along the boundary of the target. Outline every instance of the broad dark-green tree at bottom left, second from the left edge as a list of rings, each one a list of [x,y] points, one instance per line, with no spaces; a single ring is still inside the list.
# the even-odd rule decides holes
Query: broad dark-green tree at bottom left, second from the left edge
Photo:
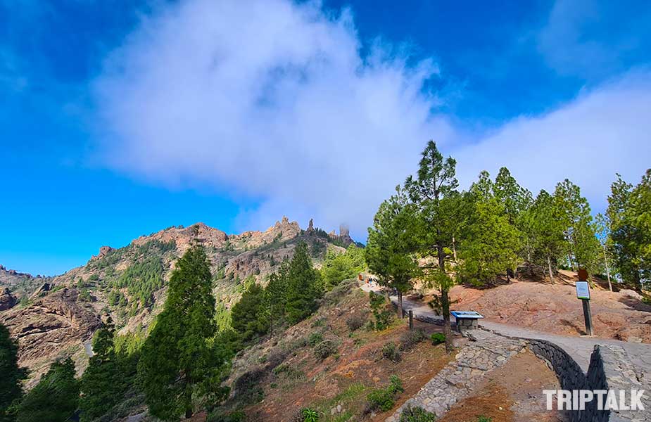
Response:
[[[79,383],[68,357],[54,362],[41,381],[25,395],[16,412],[18,422],[65,422],[77,410]]]

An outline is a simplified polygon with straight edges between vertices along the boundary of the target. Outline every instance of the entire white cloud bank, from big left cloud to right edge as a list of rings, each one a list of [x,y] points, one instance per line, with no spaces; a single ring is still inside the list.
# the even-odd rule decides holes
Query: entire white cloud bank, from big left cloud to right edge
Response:
[[[246,5],[245,5],[246,3]],[[358,238],[434,139],[460,179],[510,167],[534,190],[571,177],[604,198],[639,177],[650,147],[647,73],[469,142],[424,90],[433,60],[377,41],[362,54],[350,13],[287,0],[186,1],[145,18],[94,81],[103,160],[168,186],[255,198],[241,224],[289,215]],[[106,129],[108,128],[108,129]]]

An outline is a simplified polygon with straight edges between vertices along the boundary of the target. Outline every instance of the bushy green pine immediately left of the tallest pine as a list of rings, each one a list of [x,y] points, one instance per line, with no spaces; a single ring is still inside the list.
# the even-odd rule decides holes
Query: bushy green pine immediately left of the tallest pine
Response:
[[[365,248],[369,269],[383,286],[398,292],[398,318],[403,317],[403,293],[411,290],[418,269],[412,257],[416,224],[412,210],[405,191],[396,187],[396,195],[381,203]]]

